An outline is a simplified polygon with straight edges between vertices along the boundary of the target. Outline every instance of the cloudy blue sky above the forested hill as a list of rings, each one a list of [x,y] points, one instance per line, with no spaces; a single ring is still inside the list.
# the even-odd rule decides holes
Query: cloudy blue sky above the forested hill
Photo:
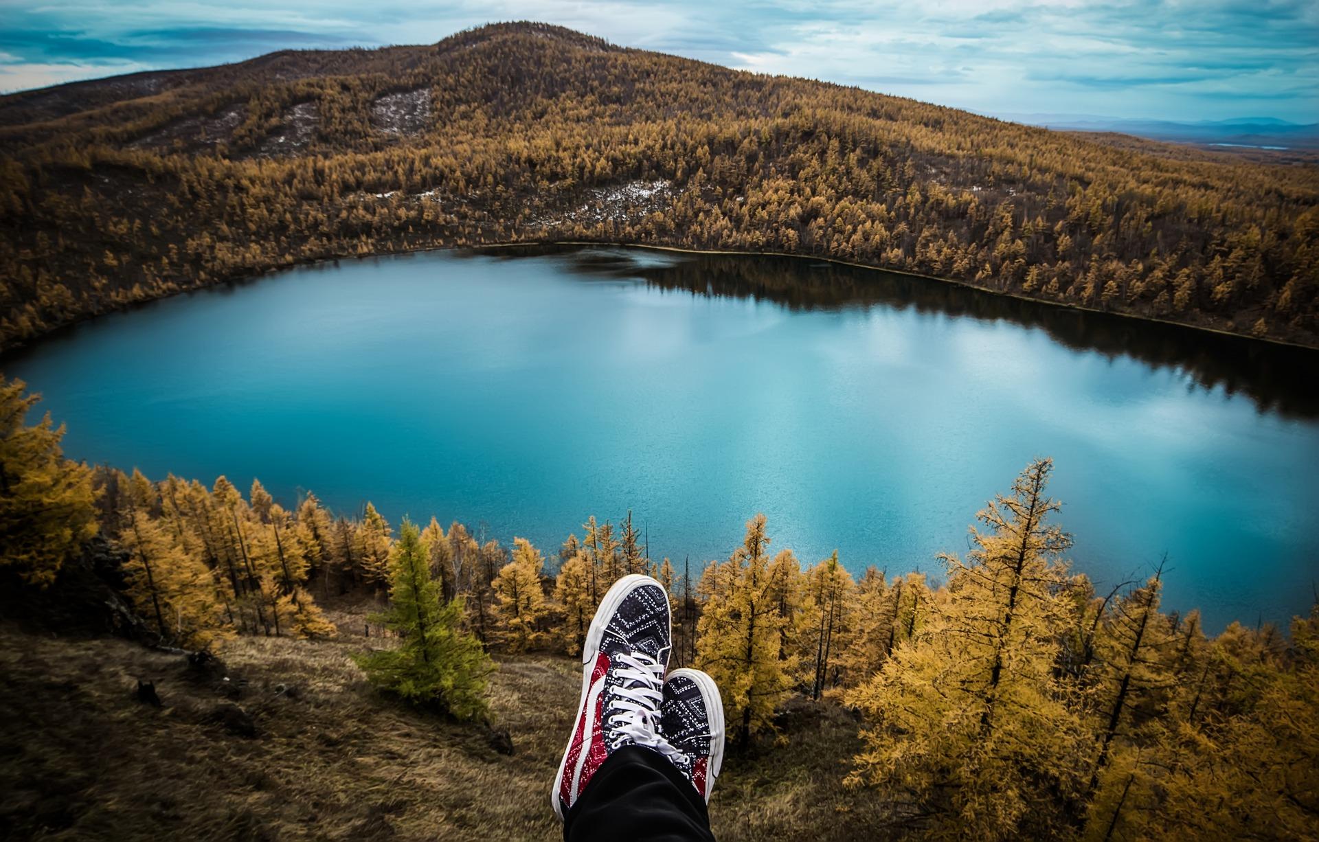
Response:
[[[1319,0],[0,0],[0,91],[510,20],[997,116],[1319,121]]]

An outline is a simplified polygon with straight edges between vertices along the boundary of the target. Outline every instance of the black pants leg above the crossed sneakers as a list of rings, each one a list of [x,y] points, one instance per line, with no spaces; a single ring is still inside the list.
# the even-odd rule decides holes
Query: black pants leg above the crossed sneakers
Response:
[[[624,746],[600,764],[563,822],[566,842],[715,842],[691,781],[658,751]]]

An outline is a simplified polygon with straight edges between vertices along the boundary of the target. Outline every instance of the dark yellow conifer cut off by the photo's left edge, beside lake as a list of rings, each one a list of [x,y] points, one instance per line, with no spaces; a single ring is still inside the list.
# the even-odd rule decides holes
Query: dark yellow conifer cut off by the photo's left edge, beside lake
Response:
[[[0,568],[46,586],[96,534],[91,470],[63,457],[63,426],[25,423],[40,395],[0,379]]]

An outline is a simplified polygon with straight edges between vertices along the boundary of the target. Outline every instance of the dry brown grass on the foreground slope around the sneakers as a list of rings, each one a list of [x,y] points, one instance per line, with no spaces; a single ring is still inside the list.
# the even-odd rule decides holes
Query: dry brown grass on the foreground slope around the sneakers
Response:
[[[348,659],[363,644],[240,639],[226,651],[226,683],[124,640],[0,629],[0,835],[561,835],[547,799],[579,689],[570,659],[499,664],[492,704],[513,738],[506,756],[480,726],[376,694]],[[156,683],[161,708],[137,700],[138,679]],[[226,705],[251,714],[255,737],[218,721]],[[711,805],[718,835],[869,838],[873,799],[838,783],[856,723],[832,705],[803,702],[785,734],[727,760]]]

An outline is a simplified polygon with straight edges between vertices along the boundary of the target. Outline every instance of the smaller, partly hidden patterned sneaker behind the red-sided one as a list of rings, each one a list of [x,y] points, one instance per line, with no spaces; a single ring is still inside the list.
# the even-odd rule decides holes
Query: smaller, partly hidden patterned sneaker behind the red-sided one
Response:
[[[678,750],[670,758],[706,802],[724,764],[724,702],[715,680],[699,669],[674,669],[663,683],[660,730]]]

